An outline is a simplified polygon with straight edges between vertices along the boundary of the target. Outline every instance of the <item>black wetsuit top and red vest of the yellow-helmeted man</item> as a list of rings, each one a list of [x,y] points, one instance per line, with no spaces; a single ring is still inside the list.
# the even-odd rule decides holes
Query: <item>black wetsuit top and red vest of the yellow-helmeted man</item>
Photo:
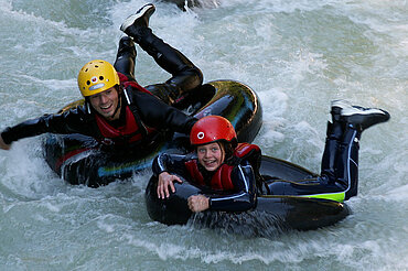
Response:
[[[151,95],[135,80],[119,74],[124,87],[120,119],[108,122],[89,105],[56,115],[44,115],[7,128],[1,137],[7,144],[19,139],[51,133],[80,133],[105,144],[128,148],[149,145],[158,130],[170,129],[190,133],[196,119],[189,117]]]

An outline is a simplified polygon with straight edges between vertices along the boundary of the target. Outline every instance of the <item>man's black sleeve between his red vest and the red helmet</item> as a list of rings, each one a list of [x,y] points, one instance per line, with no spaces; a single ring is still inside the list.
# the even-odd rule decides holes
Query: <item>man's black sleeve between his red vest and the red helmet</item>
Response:
[[[139,116],[149,127],[190,134],[191,128],[197,121],[152,95],[140,91],[133,91],[133,95],[136,97],[132,100],[140,110]]]

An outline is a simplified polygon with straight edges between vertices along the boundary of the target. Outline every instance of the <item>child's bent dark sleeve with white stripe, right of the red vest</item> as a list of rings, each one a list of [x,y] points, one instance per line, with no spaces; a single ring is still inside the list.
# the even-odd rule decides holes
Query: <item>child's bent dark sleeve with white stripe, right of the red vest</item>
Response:
[[[249,162],[243,161],[232,172],[232,180],[237,193],[210,196],[210,209],[226,212],[244,212],[256,206],[255,174]]]

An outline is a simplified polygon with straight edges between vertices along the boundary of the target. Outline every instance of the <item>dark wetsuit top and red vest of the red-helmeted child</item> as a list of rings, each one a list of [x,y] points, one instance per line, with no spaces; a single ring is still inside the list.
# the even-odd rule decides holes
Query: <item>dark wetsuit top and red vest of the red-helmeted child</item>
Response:
[[[179,175],[192,183],[215,191],[208,194],[210,209],[244,212],[256,206],[256,176],[260,149],[241,143],[235,149],[233,158],[223,163],[215,172],[206,171],[195,154],[160,154],[153,162],[153,174],[162,172]]]

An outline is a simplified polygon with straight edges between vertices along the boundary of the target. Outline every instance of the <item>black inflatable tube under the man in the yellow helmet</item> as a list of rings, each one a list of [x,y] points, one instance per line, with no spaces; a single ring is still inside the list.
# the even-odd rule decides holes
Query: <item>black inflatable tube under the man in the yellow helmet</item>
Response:
[[[61,111],[80,102],[72,102]],[[251,142],[262,122],[262,110],[256,93],[234,80],[210,82],[189,93],[174,107],[197,118],[207,115],[227,118],[243,142]],[[117,154],[98,151],[98,142],[82,134],[46,134],[44,156],[50,167],[68,183],[97,187],[150,169],[152,160],[161,152],[185,152],[190,148],[185,134],[168,132],[158,137],[146,153]]]

